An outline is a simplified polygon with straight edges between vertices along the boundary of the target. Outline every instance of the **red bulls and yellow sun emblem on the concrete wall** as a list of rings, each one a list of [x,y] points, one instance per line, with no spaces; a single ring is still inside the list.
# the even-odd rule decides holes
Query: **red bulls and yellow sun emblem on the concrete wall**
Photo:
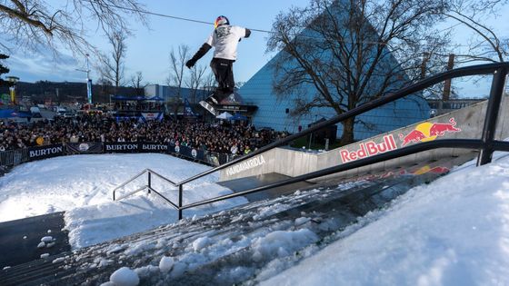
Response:
[[[442,137],[445,133],[460,132],[461,129],[455,127],[456,122],[454,118],[449,119],[449,123],[420,123],[415,126],[415,129],[406,134],[399,134],[399,138],[403,147],[409,143],[419,143],[433,141],[436,137]]]

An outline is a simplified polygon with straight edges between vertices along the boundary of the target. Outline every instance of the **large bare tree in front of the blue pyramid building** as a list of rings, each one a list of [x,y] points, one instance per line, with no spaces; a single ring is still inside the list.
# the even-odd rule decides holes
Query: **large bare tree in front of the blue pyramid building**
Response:
[[[312,0],[292,8],[276,17],[268,41],[269,51],[283,51],[274,59],[274,91],[294,98],[299,115],[323,107],[345,113],[401,88],[421,75],[424,52],[447,43],[430,28],[445,7],[434,0]],[[430,55],[428,69],[441,61]],[[342,144],[354,141],[354,123],[342,123]]]

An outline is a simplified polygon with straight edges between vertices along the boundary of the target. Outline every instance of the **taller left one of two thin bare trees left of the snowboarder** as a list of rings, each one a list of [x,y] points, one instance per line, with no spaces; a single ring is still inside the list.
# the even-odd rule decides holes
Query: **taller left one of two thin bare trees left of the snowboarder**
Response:
[[[178,108],[182,104],[182,87],[185,84],[185,61],[189,57],[189,46],[181,44],[178,46],[178,50],[172,49],[170,52],[170,74],[166,79],[166,83],[173,86],[172,89],[173,97],[171,103],[175,114],[175,120],[177,118]]]

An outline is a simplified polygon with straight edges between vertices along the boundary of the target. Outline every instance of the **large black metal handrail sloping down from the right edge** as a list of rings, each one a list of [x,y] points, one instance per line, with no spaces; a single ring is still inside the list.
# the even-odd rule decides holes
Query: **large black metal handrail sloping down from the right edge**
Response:
[[[238,196],[243,196],[245,194],[253,193],[253,192],[262,192],[264,190],[272,189],[279,186],[284,186],[294,182],[302,182],[305,180],[311,180],[319,177],[323,177],[325,175],[344,172],[353,168],[363,167],[373,163],[381,163],[387,160],[392,160],[395,158],[403,157],[406,155],[420,153],[424,151],[434,150],[437,148],[464,148],[464,149],[479,149],[480,154],[478,157],[478,165],[483,165],[485,163],[490,163],[492,160],[492,155],[494,151],[505,151],[509,152],[509,143],[495,141],[494,140],[494,131],[496,127],[496,120],[498,118],[499,107],[502,101],[502,96],[504,94],[504,82],[509,71],[509,63],[496,63],[496,64],[479,64],[474,66],[467,66],[462,68],[457,68],[454,70],[450,70],[444,72],[442,74],[435,74],[434,76],[428,77],[423,81],[420,81],[415,84],[411,84],[403,89],[394,92],[394,94],[388,94],[383,97],[377,98],[369,103],[360,105],[348,112],[336,115],[329,120],[326,120],[322,123],[317,123],[312,127],[305,129],[301,133],[295,133],[290,136],[285,137],[277,142],[270,143],[261,147],[255,152],[248,153],[240,158],[237,158],[231,162],[222,164],[215,168],[212,168],[204,173],[198,173],[190,178],[185,179],[182,182],[175,183],[175,186],[178,187],[179,190],[179,204],[178,204],[178,217],[179,220],[182,219],[183,210],[194,208],[197,206],[201,206],[204,204],[208,204],[211,202],[219,202],[227,199],[235,198]],[[433,142],[419,143],[411,146],[404,147],[402,149],[394,150],[388,153],[378,154],[372,157],[360,159],[351,163],[343,163],[334,167],[325,168],[323,170],[315,171],[313,173],[306,173],[294,178],[290,178],[281,182],[274,182],[269,185],[265,185],[263,187],[257,187],[250,190],[246,190],[244,192],[235,192],[232,194],[227,194],[223,196],[218,196],[215,198],[211,198],[208,200],[204,200],[201,202],[193,202],[187,205],[182,205],[182,195],[184,190],[184,185],[188,182],[193,182],[199,178],[202,178],[208,174],[215,173],[217,171],[228,168],[236,163],[241,163],[245,160],[253,158],[261,153],[274,149],[276,147],[282,146],[284,144],[290,143],[295,139],[303,137],[307,134],[314,133],[317,130],[320,130],[324,127],[333,125],[335,123],[340,123],[348,118],[357,116],[361,113],[365,113],[373,110],[374,108],[380,107],[384,104],[388,104],[403,98],[404,96],[414,94],[416,92],[420,92],[425,88],[428,88],[434,84],[439,84],[448,79],[453,79],[456,77],[470,76],[470,75],[481,75],[481,74],[493,74],[493,81],[490,91],[490,97],[488,100],[488,107],[486,109],[485,119],[484,119],[484,129],[480,139],[446,139],[446,140],[436,140]],[[174,205],[175,206],[175,205]]]

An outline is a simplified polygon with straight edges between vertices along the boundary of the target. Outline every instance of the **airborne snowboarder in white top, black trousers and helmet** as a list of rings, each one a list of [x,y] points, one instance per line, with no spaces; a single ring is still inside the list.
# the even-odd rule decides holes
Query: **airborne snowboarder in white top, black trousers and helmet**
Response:
[[[237,45],[242,38],[251,35],[249,29],[230,25],[230,21],[224,15],[215,19],[215,30],[207,38],[198,52],[185,63],[185,66],[192,68],[212,47],[215,48],[214,57],[210,63],[217,88],[215,93],[208,98],[214,104],[234,93],[235,80],[233,64],[237,59]]]

